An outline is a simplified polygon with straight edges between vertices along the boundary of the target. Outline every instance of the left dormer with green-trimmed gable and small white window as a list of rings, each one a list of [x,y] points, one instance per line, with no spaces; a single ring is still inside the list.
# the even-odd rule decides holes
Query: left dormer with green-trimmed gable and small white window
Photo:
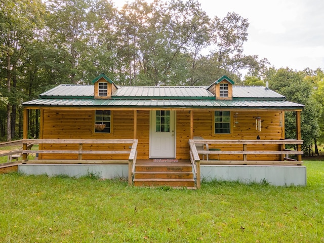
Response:
[[[93,79],[92,83],[95,85],[95,99],[111,99],[111,96],[117,91],[115,84],[104,73]]]

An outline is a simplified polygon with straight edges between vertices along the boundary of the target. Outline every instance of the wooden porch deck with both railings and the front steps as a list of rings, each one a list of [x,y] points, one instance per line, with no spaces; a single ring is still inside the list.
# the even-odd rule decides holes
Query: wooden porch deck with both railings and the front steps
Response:
[[[17,142],[15,142],[17,143]],[[23,159],[19,161],[22,164],[33,165],[34,168],[36,165],[39,165],[39,168],[48,168],[60,167],[63,169],[60,173],[66,173],[66,171],[71,172],[71,176],[75,176],[74,170],[79,170],[79,172],[84,173],[85,168],[94,168],[100,167],[102,171],[107,170],[108,168],[114,168],[113,170],[118,170],[118,173],[112,172],[112,174],[108,173],[110,177],[107,178],[115,178],[119,177],[121,174],[123,178],[128,178],[129,185],[135,186],[170,186],[170,187],[186,187],[186,188],[200,188],[200,180],[201,175],[204,176],[204,173],[201,174],[200,166],[205,166],[205,168],[209,168],[210,171],[214,168],[214,166],[269,166],[269,167],[282,167],[282,166],[294,166],[300,167],[302,164],[301,155],[303,154],[300,151],[300,148],[297,147],[297,151],[287,150],[285,148],[285,144],[297,144],[300,145],[303,143],[302,140],[189,140],[190,151],[190,160],[179,160],[179,161],[154,161],[153,159],[145,159],[140,160],[137,159],[137,143],[138,140],[125,139],[125,140],[31,140],[25,139],[20,140],[20,143],[23,145],[23,149],[20,150],[22,153]],[[53,144],[53,143],[66,143],[66,144],[78,144],[76,149],[74,150],[27,150],[27,144]],[[83,144],[129,144],[131,146],[124,146],[124,150],[114,150],[113,148],[110,150],[102,149],[102,150],[84,150]],[[240,149],[236,147],[234,149],[231,146],[226,147],[226,149],[210,149],[210,150],[202,150],[197,149],[196,144],[238,144],[242,146]],[[254,149],[254,144],[277,144],[279,149],[275,150],[256,150]],[[0,144],[0,146],[4,146],[5,144]],[[10,155],[14,151],[3,154]],[[77,159],[35,159],[35,160],[27,160],[27,153],[41,153],[41,154],[77,154]],[[128,159],[85,159],[83,157],[84,154],[107,154],[111,155],[109,157],[115,158],[118,157],[119,154],[125,154],[128,156]],[[213,156],[224,156],[224,155],[240,155],[241,159],[238,160],[212,160]],[[256,154],[264,154],[264,155],[278,155],[281,160],[252,160],[249,159],[252,155]],[[297,155],[298,159],[289,158],[289,155]],[[116,155],[116,156],[115,156]],[[207,160],[203,160],[200,157],[202,155],[207,155]],[[208,160],[208,155],[210,160]],[[126,157],[124,156],[124,157]],[[199,157],[200,156],[200,157]],[[55,156],[54,156],[55,158]],[[18,163],[19,164],[19,163]],[[18,165],[17,164],[17,165]],[[11,171],[17,171],[17,165],[3,165],[0,168],[0,173],[7,173]],[[81,168],[80,168],[81,167]],[[31,167],[30,167],[31,168]],[[76,169],[78,168],[78,169]],[[216,167],[215,167],[216,168]],[[36,170],[36,169],[35,169]],[[54,169],[53,169],[54,170]],[[55,169],[56,170],[56,169]],[[286,169],[283,169],[286,170]],[[268,171],[269,172],[269,171]],[[31,171],[30,173],[36,173]],[[44,172],[46,174],[47,172]],[[48,172],[50,173],[50,172]],[[57,172],[56,174],[58,174]],[[89,172],[88,172],[89,173]],[[114,174],[113,174],[114,173]],[[205,172],[206,173],[206,172]],[[259,173],[259,172],[257,172]],[[216,175],[216,174],[215,174]]]

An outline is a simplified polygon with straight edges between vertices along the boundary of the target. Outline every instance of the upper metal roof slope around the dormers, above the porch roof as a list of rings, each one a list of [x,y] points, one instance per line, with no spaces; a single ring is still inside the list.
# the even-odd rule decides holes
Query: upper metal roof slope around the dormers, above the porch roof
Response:
[[[214,100],[208,87],[200,86],[118,86],[112,99],[194,99]],[[93,85],[59,85],[39,95],[39,98],[94,99]],[[263,86],[233,86],[233,99],[281,99],[282,96]]]

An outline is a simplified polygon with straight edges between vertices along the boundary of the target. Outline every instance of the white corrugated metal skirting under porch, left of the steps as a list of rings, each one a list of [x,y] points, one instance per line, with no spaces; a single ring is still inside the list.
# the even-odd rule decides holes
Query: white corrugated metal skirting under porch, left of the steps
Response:
[[[128,165],[18,165],[25,175],[67,175],[82,177],[96,175],[103,179],[128,178]]]

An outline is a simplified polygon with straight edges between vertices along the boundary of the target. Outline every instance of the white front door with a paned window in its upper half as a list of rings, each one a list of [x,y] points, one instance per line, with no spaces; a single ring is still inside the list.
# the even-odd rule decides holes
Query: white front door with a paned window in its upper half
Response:
[[[150,158],[175,158],[175,111],[150,112]]]

